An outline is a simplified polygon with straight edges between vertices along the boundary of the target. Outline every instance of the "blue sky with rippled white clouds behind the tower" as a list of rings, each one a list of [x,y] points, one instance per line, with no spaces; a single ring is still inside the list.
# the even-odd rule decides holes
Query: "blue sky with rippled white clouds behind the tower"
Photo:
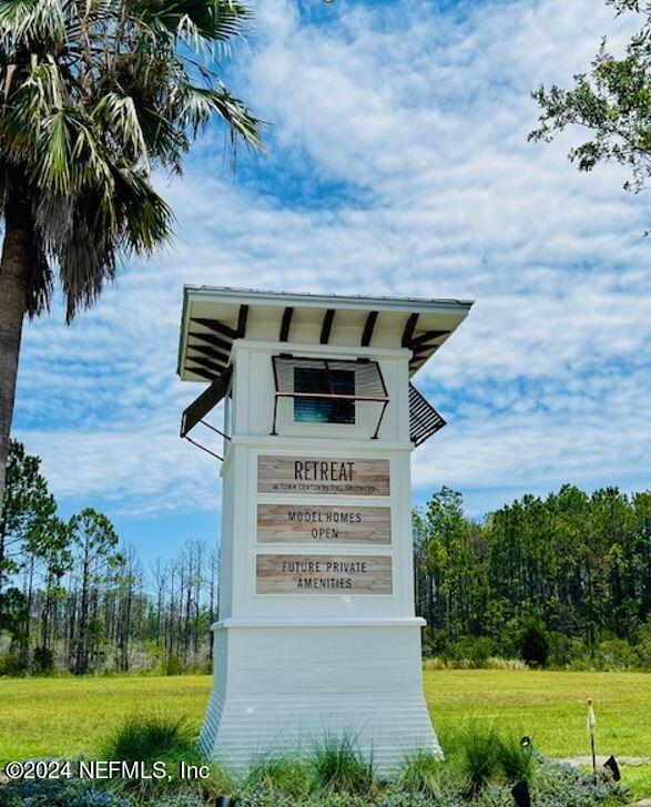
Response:
[[[414,454],[415,499],[468,511],[569,481],[650,483],[649,198],[581,175],[577,133],[527,143],[530,90],[567,83],[625,19],[596,0],[260,0],[228,67],[269,122],[160,180],[176,241],[65,327],[26,328],[14,433],[62,511],[92,504],[146,560],[218,535],[218,468],[177,438],[183,283],[475,298],[416,377],[448,427]]]

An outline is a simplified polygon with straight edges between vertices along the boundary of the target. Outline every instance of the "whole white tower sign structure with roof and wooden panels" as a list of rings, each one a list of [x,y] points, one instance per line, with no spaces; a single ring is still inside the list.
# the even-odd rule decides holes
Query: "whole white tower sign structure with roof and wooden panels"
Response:
[[[211,384],[182,437],[197,443],[225,399],[223,447],[208,449],[223,509],[204,752],[242,769],[346,736],[380,773],[440,753],[414,612],[410,456],[445,421],[409,378],[470,306],[185,287],[179,374]]]

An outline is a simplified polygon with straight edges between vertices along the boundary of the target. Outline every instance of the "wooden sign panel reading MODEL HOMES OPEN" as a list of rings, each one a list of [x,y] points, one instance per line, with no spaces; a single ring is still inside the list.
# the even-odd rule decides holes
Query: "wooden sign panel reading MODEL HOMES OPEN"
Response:
[[[258,504],[258,543],[391,542],[390,508]]]

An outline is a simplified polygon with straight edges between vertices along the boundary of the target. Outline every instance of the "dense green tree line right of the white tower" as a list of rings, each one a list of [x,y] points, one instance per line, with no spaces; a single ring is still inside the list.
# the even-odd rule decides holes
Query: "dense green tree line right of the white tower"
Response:
[[[478,523],[443,488],[413,523],[429,654],[651,668],[651,491],[567,484]]]

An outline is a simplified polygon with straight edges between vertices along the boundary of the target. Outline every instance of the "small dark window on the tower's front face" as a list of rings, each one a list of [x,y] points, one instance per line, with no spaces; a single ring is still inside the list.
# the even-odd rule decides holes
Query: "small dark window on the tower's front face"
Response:
[[[329,375],[329,384],[328,384]],[[295,392],[355,395],[355,371],[321,367],[294,367]],[[354,423],[355,401],[340,398],[294,398],[296,423]]]

